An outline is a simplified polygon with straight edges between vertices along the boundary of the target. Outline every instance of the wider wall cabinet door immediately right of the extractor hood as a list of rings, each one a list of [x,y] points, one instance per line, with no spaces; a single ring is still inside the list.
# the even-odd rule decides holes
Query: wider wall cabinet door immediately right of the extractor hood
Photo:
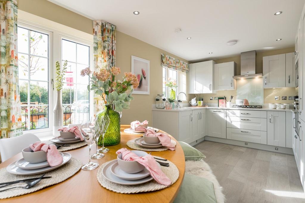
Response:
[[[263,87],[285,87],[286,54],[263,57]]]

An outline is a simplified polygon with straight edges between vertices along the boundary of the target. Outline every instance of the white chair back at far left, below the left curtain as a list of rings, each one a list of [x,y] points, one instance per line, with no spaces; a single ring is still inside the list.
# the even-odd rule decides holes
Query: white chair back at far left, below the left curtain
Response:
[[[21,152],[22,149],[37,141],[40,141],[40,139],[32,133],[26,133],[13,138],[0,139],[0,154],[2,162],[15,156]]]

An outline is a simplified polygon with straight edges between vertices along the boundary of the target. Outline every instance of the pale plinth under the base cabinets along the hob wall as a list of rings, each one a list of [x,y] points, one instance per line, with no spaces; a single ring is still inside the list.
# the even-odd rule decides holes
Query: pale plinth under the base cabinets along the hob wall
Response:
[[[263,144],[252,143],[252,142],[247,142],[248,145],[245,145],[245,142],[243,142],[243,141],[215,138],[215,137],[209,137],[209,136],[205,136],[204,139],[207,141],[212,141],[212,142],[220,142],[220,143],[229,144],[229,145],[237,145],[237,146],[241,146],[241,147],[248,147],[248,148],[253,148],[253,149],[260,149],[260,150],[265,150],[265,151],[270,151],[270,152],[277,152],[277,153],[293,155],[292,148],[263,145]],[[277,147],[278,150],[275,150],[275,147]]]

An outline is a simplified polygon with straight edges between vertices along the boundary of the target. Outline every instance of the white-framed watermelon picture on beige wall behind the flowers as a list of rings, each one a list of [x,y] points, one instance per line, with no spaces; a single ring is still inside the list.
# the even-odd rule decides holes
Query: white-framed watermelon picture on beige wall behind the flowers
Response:
[[[149,61],[131,55],[131,72],[138,78],[139,86],[134,89],[133,94],[149,94]]]

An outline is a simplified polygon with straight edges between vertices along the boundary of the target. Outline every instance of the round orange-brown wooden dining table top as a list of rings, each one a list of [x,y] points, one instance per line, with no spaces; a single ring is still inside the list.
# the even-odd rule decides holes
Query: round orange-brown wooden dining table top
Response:
[[[103,163],[116,159],[116,151],[120,148],[127,147],[126,143],[132,138],[137,138],[139,135],[130,135],[124,133],[125,128],[129,128],[129,125],[121,125],[121,142],[118,145],[107,146],[110,149],[109,152],[105,153],[102,159],[92,159],[93,162],[99,163],[101,166]],[[175,138],[172,137],[175,140]],[[66,151],[82,161],[83,164],[88,163],[89,159],[89,148],[84,146],[78,149]],[[94,149],[91,150],[92,153],[95,152]],[[67,180],[55,184],[49,187],[45,187],[39,191],[24,194],[21,196],[7,198],[1,200],[1,202],[22,202],[22,203],[32,203],[33,201],[39,202],[173,202],[179,188],[181,186],[184,172],[185,172],[185,158],[184,153],[180,144],[177,142],[176,150],[162,151],[162,152],[152,152],[152,155],[160,156],[173,162],[179,170],[179,178],[170,187],[162,190],[153,192],[143,192],[137,194],[120,194],[110,191],[102,187],[96,177],[99,168],[91,171],[79,170],[74,176],[68,178]],[[16,156],[6,160],[0,164],[0,168],[8,166],[10,163],[22,158],[22,154],[19,153]],[[26,177],[26,176],[25,176]]]

